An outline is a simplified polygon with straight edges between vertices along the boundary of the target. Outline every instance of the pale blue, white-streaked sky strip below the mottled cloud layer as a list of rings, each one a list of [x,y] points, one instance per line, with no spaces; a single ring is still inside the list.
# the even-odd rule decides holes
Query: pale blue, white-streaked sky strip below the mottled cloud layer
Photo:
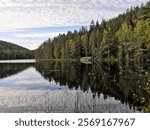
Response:
[[[53,39],[59,34],[66,34],[67,31],[79,30],[82,26],[62,26],[62,27],[33,27],[33,28],[16,28],[0,31],[0,39],[10,41],[26,47],[35,49],[48,38]]]

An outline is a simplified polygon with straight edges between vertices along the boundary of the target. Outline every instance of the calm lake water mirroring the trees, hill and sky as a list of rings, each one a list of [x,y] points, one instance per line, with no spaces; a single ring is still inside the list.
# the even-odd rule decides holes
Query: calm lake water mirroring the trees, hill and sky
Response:
[[[150,112],[148,63],[0,61],[0,112]]]

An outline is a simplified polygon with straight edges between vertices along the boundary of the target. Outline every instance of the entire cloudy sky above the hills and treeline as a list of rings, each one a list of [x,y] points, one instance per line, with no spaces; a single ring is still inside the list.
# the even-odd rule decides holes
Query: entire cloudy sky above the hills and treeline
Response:
[[[29,49],[49,37],[88,26],[148,0],[0,0],[0,40]]]

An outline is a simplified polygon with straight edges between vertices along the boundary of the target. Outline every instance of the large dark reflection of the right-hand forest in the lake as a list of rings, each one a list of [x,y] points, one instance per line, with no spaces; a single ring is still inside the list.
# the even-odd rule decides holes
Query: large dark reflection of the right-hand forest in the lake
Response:
[[[38,62],[36,69],[45,79],[70,89],[91,91],[93,98],[114,97],[130,108],[150,112],[150,93],[146,84],[150,79],[149,68],[146,64],[134,63],[99,63],[98,65],[86,65],[69,62]]]

